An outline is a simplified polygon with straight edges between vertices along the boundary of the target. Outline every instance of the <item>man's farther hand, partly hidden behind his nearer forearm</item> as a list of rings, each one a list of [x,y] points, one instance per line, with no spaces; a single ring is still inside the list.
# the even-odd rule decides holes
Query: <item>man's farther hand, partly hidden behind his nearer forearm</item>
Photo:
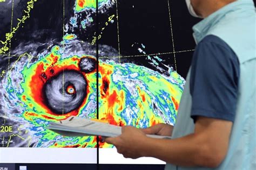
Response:
[[[141,129],[146,134],[158,134],[161,136],[172,136],[172,130],[173,126],[160,123],[154,126],[151,126],[150,128]]]

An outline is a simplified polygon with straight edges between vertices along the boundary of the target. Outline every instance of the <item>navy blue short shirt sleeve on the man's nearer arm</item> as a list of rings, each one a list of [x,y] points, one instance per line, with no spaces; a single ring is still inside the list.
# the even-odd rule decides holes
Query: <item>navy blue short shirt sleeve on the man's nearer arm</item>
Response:
[[[240,75],[239,60],[220,38],[205,37],[197,46],[191,66],[191,117],[234,121]]]

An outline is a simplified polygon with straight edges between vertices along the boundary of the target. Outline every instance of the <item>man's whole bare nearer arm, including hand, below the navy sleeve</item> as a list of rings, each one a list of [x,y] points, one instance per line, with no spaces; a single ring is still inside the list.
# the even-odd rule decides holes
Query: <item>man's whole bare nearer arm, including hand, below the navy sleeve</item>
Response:
[[[177,139],[154,139],[131,126],[106,138],[125,158],[155,157],[178,166],[217,167],[228,150],[232,122],[198,117],[194,133]],[[131,145],[132,144],[132,145]]]

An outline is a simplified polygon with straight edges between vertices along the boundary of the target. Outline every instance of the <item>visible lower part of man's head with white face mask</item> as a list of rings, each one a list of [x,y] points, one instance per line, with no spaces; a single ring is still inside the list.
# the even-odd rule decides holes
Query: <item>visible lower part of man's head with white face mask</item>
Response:
[[[206,18],[211,13],[235,1],[237,0],[186,0],[186,3],[192,16]]]

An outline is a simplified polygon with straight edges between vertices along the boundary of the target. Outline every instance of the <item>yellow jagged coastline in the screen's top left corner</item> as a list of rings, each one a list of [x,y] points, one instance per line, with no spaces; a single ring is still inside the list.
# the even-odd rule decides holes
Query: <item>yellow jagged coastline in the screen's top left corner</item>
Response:
[[[27,3],[28,6],[26,6],[26,10],[23,11],[25,13],[25,15],[21,19],[19,19],[19,18],[17,19],[18,24],[16,27],[12,28],[11,32],[5,34],[5,41],[0,41],[1,44],[3,45],[3,47],[0,48],[0,54],[5,54],[5,52],[7,52],[9,50],[8,43],[11,41],[12,37],[14,37],[14,34],[19,29],[19,26],[21,26],[22,23],[25,23],[26,19],[28,19],[30,17],[29,13],[30,13],[31,9],[33,9],[35,2],[37,2],[37,0],[31,0]]]

